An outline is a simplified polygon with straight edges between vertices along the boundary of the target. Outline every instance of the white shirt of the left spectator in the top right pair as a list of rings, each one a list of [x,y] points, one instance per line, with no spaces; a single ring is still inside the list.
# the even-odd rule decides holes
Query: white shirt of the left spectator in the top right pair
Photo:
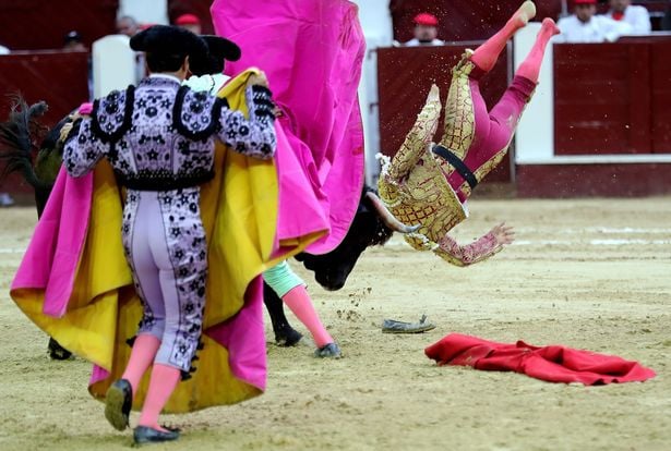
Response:
[[[613,42],[622,35],[630,35],[633,28],[630,24],[616,22],[604,15],[595,15],[589,22],[582,22],[575,14],[560,19],[556,24],[562,31],[553,38],[553,42]]]

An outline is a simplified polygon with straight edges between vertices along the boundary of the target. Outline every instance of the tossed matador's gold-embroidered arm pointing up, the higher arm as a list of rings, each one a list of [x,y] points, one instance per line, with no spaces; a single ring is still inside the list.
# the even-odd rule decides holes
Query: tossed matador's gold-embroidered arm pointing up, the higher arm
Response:
[[[438,86],[432,85],[427,102],[418,114],[415,125],[406,135],[406,141],[392,159],[392,164],[387,169],[387,176],[393,181],[397,183],[403,181],[415,168],[435,134],[440,115],[440,90]]]

